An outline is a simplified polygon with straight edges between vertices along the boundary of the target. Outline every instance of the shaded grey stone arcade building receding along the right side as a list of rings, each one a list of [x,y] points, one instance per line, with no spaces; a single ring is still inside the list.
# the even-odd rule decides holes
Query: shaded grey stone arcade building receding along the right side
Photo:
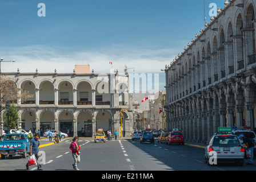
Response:
[[[225,1],[166,65],[167,129],[205,142],[219,126],[250,126],[256,119],[256,2]]]

